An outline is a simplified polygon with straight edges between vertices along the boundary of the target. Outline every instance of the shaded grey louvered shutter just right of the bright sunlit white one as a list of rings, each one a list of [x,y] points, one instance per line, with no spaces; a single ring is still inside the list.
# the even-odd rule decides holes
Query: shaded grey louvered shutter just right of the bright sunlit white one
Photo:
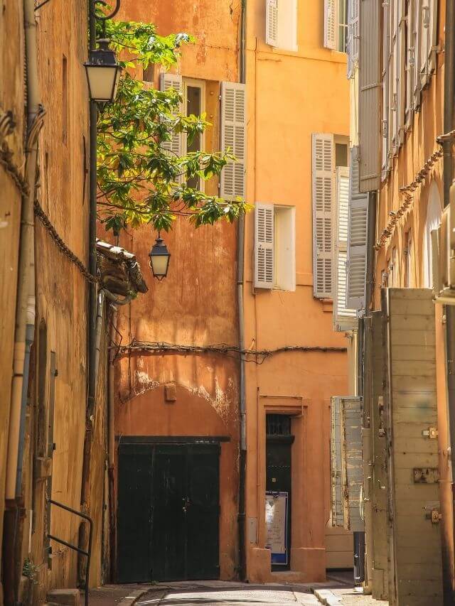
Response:
[[[350,153],[346,305],[349,309],[362,309],[365,308],[368,194],[358,190],[358,148],[351,148]]]

